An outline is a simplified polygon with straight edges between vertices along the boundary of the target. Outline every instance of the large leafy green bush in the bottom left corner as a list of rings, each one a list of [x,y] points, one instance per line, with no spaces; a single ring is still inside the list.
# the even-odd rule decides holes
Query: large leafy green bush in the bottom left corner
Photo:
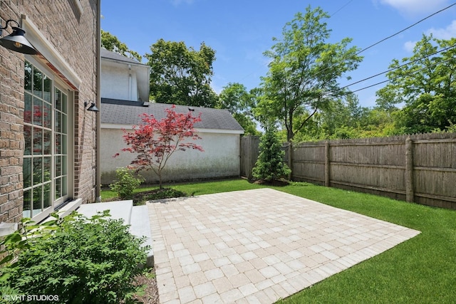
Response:
[[[134,278],[148,248],[122,220],[108,216],[105,211],[91,218],[73,213],[41,225],[24,221],[24,231],[2,242],[10,261],[0,268],[0,292],[57,296],[46,303],[131,299],[140,289]]]

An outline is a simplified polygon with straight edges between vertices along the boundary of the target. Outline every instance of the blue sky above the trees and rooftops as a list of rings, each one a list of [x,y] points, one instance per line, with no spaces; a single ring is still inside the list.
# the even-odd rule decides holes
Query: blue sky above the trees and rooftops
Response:
[[[353,38],[352,45],[366,48],[420,19],[450,6],[450,0],[103,0],[101,28],[117,36],[133,51],[150,53],[158,39],[184,41],[199,49],[204,41],[216,51],[212,88],[219,93],[228,83],[242,83],[248,90],[259,86],[267,73],[264,51],[281,38],[285,23],[307,6],[320,6],[331,18],[330,42]],[[391,61],[410,57],[423,33],[437,38],[456,37],[456,6],[361,53],[359,68],[341,85],[388,70]],[[145,63],[145,60],[143,60]],[[385,80],[373,78],[350,87],[358,90]],[[383,85],[357,92],[361,105],[375,105],[375,91]]]

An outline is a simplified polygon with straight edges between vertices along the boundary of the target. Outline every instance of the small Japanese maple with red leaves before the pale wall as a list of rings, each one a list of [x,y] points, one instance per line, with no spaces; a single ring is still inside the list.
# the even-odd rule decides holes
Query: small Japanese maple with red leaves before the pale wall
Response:
[[[165,168],[171,155],[176,151],[198,150],[203,152],[201,146],[189,140],[200,140],[193,125],[201,121],[198,117],[175,112],[175,105],[166,109],[166,117],[156,120],[154,115],[144,113],[140,115],[142,123],[133,126],[133,132],[123,130],[123,139],[128,147],[123,152],[135,153],[136,158],[131,162],[131,167],[139,170],[152,170],[157,174],[160,189],[162,189],[162,170]],[[118,156],[119,154],[115,154]]]

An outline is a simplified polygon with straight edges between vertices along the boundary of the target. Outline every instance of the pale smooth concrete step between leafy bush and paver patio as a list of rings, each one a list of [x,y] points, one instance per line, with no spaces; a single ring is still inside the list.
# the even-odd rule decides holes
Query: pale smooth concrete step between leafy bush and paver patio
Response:
[[[123,219],[124,224],[130,225],[130,233],[134,236],[145,236],[142,246],[150,246],[147,252],[146,267],[154,266],[152,235],[150,232],[149,212],[147,206],[133,206],[133,201],[109,201],[105,203],[82,204],[76,210],[83,216],[91,217],[98,212],[109,210],[113,219]]]

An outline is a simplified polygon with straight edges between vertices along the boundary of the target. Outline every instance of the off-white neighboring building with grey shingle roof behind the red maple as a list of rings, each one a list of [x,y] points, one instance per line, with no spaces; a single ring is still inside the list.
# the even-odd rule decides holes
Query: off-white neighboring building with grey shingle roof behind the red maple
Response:
[[[150,67],[111,51],[101,50],[101,183],[108,185],[115,179],[115,169],[126,167],[135,158],[128,152],[123,130],[131,130],[140,123],[142,113],[155,118],[165,117],[171,105],[149,103]],[[176,112],[188,112],[187,106],[177,105]],[[195,108],[201,122],[195,124],[202,140],[197,140],[204,152],[187,150],[176,152],[163,169],[163,181],[183,181],[239,176],[239,145],[242,127],[227,110]],[[113,157],[120,152],[120,156]],[[147,182],[156,182],[155,174],[141,172]]]

